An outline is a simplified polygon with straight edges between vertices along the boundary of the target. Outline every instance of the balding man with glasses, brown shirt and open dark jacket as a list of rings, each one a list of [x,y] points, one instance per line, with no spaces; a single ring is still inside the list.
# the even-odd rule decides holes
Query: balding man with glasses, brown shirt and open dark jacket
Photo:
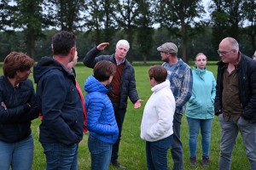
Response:
[[[238,132],[251,169],[256,169],[256,62],[241,54],[238,42],[219,43],[215,115],[221,127],[218,169],[229,170]]]

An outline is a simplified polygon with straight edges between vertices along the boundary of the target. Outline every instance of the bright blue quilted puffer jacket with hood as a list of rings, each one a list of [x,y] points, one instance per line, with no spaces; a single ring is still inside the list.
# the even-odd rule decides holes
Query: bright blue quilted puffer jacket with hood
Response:
[[[119,136],[113,105],[108,98],[109,89],[90,76],[84,82],[87,127],[90,135],[108,144],[114,144]]]

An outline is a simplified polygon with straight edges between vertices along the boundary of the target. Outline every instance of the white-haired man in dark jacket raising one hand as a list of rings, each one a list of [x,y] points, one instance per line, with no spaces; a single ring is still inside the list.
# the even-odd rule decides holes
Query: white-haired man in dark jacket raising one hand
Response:
[[[100,60],[109,60],[113,62],[114,65],[117,65],[117,71],[111,84],[111,91],[108,93],[108,97],[113,104],[114,116],[119,127],[119,138],[117,139],[116,143],[113,144],[111,163],[113,166],[125,169],[126,167],[119,164],[118,152],[122,125],[127,107],[127,99],[129,96],[135,109],[141,106],[141,102],[143,102],[143,100],[139,99],[137,94],[134,69],[128,60],[125,59],[125,56],[130,48],[129,42],[126,40],[119,40],[119,42],[116,44],[115,54],[101,55],[96,57],[97,54],[99,54],[108,45],[108,42],[104,42],[97,47],[92,48],[85,55],[83,62],[84,65],[90,68],[93,68],[94,65],[96,65],[96,63]]]

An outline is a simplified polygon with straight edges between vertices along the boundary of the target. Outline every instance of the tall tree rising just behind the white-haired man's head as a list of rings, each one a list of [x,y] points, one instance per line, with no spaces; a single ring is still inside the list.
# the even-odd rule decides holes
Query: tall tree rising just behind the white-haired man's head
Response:
[[[130,63],[132,63],[133,28],[136,26],[135,22],[139,14],[137,2],[137,0],[115,0],[116,10],[113,12],[113,18],[117,21],[119,27],[128,31],[128,42],[130,42]]]

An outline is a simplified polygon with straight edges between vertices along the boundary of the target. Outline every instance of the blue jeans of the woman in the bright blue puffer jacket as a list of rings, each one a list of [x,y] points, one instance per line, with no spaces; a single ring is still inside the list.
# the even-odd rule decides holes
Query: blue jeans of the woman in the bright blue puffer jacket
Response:
[[[113,144],[102,142],[89,134],[91,170],[108,170]]]

